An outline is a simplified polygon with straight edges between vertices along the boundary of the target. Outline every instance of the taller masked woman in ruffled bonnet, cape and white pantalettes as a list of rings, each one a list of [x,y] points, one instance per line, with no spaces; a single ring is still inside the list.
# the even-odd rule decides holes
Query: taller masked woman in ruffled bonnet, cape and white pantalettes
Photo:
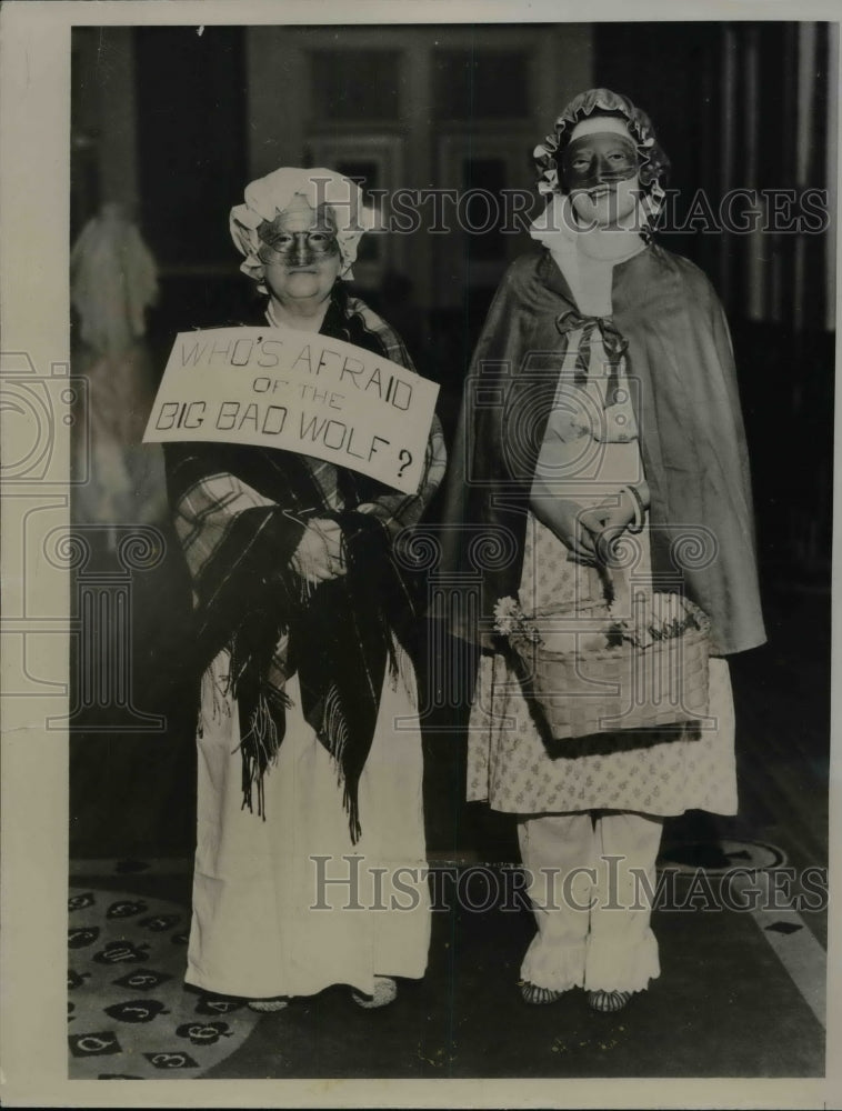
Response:
[[[518,820],[537,923],[523,999],[581,987],[612,1012],[660,972],[633,870],[654,887],[664,818],[736,810],[726,658],[764,631],[728,327],[706,278],[653,242],[668,161],[652,124],[592,89],[535,157],[549,203],[489,312],[449,484],[452,534],[508,543],[479,623],[459,630],[482,647],[469,799]],[[451,554],[462,570],[467,550]],[[610,599],[612,574],[682,591],[710,618],[712,728],[553,740],[524,699],[495,605],[575,612]]]

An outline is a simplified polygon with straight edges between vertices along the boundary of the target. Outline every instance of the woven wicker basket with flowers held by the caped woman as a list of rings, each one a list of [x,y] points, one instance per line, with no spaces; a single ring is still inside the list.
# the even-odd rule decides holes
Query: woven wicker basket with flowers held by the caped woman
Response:
[[[553,738],[665,729],[708,715],[710,621],[688,599],[681,607],[699,628],[646,648],[623,640],[612,648],[553,651],[510,638],[523,665],[524,689],[541,707]],[[542,635],[567,629],[567,639],[581,645],[589,630],[591,640],[593,632],[604,633],[611,613],[604,603],[580,604],[541,611],[532,620]]]

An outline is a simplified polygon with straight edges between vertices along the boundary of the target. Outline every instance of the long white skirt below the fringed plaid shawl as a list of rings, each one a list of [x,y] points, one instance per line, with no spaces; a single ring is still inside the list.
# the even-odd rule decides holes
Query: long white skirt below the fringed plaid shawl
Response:
[[[393,685],[387,674],[383,683],[359,784],[355,845],[337,768],[301,714],[295,677],[285,687],[287,733],[265,774],[265,821],[243,809],[225,671],[221,654],[202,688],[188,983],[265,998],[311,995],[337,983],[370,994],[375,975],[422,977],[430,907],[409,661],[404,678]]]

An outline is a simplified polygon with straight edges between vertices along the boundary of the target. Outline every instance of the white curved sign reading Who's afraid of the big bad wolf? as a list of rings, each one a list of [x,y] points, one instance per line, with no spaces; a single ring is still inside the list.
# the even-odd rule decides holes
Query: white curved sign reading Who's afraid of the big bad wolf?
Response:
[[[143,440],[281,448],[414,493],[438,393],[405,367],[315,332],[180,332]]]

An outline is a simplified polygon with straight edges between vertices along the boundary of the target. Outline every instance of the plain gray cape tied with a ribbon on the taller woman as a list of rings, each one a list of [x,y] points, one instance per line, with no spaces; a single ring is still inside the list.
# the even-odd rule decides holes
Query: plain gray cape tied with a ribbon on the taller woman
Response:
[[[442,570],[464,585],[481,580],[480,620],[471,605],[451,607],[451,627],[487,645],[494,602],[518,593],[532,477],[567,346],[557,322],[571,309],[550,253],[522,256],[498,290],[465,383]],[[716,653],[762,644],[749,458],[722,307],[693,263],[649,246],[614,267],[612,309],[651,490],[655,582],[704,610]]]

